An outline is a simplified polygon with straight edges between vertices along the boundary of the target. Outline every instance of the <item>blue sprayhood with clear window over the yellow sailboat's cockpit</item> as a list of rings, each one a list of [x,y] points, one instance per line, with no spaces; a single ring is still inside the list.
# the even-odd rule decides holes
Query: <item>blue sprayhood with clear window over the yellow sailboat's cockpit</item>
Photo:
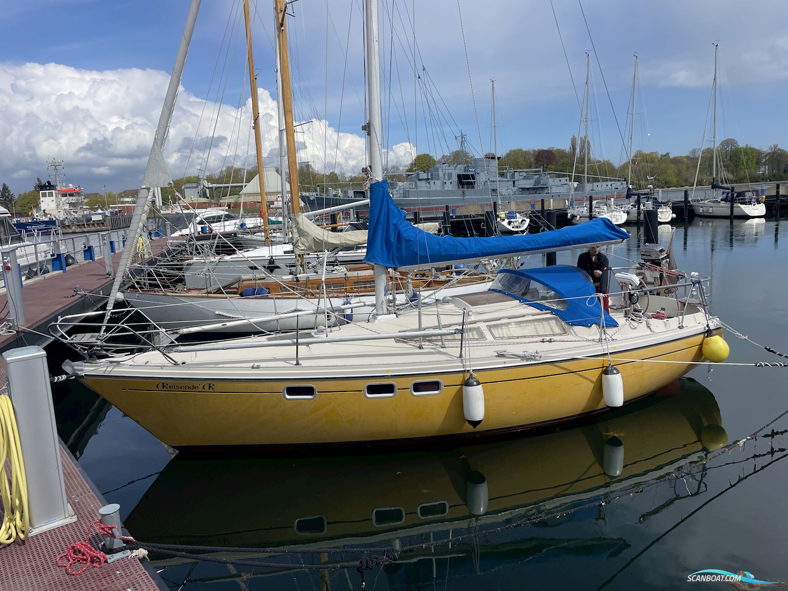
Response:
[[[542,292],[553,294],[541,297]],[[538,269],[502,269],[490,290],[505,293],[538,310],[549,310],[570,325],[592,326],[600,324],[602,305],[588,273],[567,265],[540,267]],[[544,302],[544,303],[543,303]],[[605,326],[618,326],[611,315],[604,313]]]

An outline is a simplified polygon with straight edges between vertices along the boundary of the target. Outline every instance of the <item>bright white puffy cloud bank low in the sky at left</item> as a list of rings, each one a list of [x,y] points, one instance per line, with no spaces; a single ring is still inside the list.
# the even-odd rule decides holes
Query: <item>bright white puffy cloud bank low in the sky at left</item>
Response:
[[[169,76],[142,69],[90,71],[67,65],[0,67],[0,178],[15,192],[46,178],[46,159],[59,155],[68,182],[87,191],[139,185],[151,151]],[[278,165],[277,103],[258,89],[262,153],[266,165]],[[251,98],[242,106],[205,102],[181,88],[169,130],[165,158],[173,177],[198,169],[217,172],[254,159],[250,138]],[[366,162],[365,139],[337,132],[313,119],[298,128],[299,162],[318,170],[358,173]],[[211,139],[212,138],[212,139]],[[390,165],[407,165],[413,148],[398,143]]]

